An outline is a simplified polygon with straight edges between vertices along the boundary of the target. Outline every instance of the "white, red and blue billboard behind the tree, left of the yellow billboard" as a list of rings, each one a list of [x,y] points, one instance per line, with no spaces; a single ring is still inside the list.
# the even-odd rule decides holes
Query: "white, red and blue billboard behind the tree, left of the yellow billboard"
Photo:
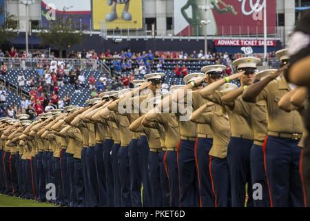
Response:
[[[76,30],[90,30],[91,0],[41,0],[41,27],[59,18],[70,19]]]

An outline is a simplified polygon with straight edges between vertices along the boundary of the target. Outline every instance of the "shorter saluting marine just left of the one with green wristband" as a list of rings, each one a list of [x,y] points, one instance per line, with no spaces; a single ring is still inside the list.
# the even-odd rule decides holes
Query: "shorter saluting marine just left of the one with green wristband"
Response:
[[[235,84],[227,84],[222,90],[237,88]],[[209,155],[209,175],[211,178],[212,192],[214,194],[215,207],[230,206],[230,185],[229,171],[227,164],[227,145],[230,139],[229,117],[225,110],[207,111],[209,106],[214,106],[207,102],[196,110],[191,120],[196,123],[208,124],[214,132],[212,147]]]

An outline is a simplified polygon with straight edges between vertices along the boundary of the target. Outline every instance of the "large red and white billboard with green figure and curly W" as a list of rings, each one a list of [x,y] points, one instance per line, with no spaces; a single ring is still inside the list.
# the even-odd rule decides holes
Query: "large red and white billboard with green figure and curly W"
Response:
[[[174,34],[182,36],[257,35],[276,32],[276,0],[174,0]],[[208,21],[202,24],[201,21]]]

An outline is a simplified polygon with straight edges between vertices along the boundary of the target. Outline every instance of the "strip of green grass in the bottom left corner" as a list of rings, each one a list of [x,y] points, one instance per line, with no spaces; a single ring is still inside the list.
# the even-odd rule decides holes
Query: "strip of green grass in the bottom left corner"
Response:
[[[53,204],[24,200],[0,194],[0,207],[56,207]]]

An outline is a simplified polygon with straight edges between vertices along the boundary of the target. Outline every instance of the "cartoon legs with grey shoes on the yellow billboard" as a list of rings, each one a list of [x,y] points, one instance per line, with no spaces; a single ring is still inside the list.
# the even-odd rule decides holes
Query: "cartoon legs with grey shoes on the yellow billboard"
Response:
[[[116,6],[118,4],[125,4],[123,12],[122,12],[122,19],[124,21],[132,21],[132,15],[129,12],[130,8],[130,0],[108,0],[107,5],[111,6],[111,12],[105,16],[105,21],[112,22],[118,19]]]

